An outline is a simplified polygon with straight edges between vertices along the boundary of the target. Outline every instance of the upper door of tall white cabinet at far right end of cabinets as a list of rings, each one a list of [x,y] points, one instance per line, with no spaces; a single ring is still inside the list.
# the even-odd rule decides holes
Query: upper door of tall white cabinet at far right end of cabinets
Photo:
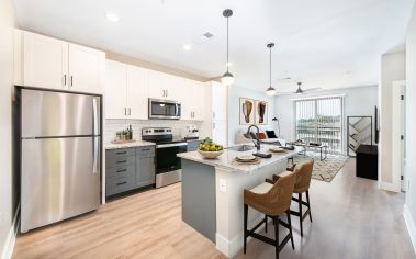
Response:
[[[216,121],[227,120],[227,87],[212,82],[212,116]]]

